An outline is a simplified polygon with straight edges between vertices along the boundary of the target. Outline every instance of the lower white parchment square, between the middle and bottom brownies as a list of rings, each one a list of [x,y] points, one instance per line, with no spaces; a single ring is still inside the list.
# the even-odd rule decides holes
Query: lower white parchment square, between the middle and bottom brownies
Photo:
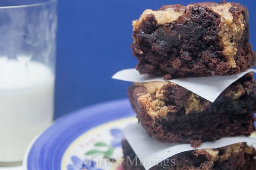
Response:
[[[175,154],[194,150],[190,144],[170,144],[158,142],[154,137],[149,137],[146,130],[139,123],[131,123],[123,129],[126,140],[133,148],[137,157],[146,170],[164,161]],[[197,149],[213,149],[224,147],[239,142],[256,143],[256,134],[250,137],[223,137],[214,142],[203,142]]]

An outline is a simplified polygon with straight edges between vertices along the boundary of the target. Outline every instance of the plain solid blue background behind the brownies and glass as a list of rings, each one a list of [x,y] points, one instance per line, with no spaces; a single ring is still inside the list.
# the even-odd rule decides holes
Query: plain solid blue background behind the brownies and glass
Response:
[[[201,1],[59,0],[55,118],[97,102],[126,98],[130,83],[111,76],[118,70],[134,68],[137,63],[130,49],[132,21],[145,9]],[[250,41],[256,46],[256,2],[233,2],[248,7]]]

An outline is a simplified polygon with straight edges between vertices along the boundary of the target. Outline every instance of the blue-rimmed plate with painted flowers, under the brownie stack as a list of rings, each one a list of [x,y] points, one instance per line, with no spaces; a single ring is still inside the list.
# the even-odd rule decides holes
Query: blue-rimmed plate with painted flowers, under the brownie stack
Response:
[[[24,170],[121,170],[122,128],[135,122],[128,99],[86,107],[57,119],[30,144]]]

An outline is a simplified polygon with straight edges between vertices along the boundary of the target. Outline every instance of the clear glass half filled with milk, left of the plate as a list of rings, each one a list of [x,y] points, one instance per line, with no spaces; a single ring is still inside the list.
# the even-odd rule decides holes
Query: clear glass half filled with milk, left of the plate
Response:
[[[57,0],[0,0],[0,166],[53,119]]]

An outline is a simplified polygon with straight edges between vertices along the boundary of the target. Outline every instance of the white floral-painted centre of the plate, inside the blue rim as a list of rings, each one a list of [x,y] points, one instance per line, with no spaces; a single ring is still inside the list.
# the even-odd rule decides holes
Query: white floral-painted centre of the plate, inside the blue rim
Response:
[[[122,170],[122,128],[135,118],[112,121],[92,128],[74,140],[62,158],[66,170]]]

